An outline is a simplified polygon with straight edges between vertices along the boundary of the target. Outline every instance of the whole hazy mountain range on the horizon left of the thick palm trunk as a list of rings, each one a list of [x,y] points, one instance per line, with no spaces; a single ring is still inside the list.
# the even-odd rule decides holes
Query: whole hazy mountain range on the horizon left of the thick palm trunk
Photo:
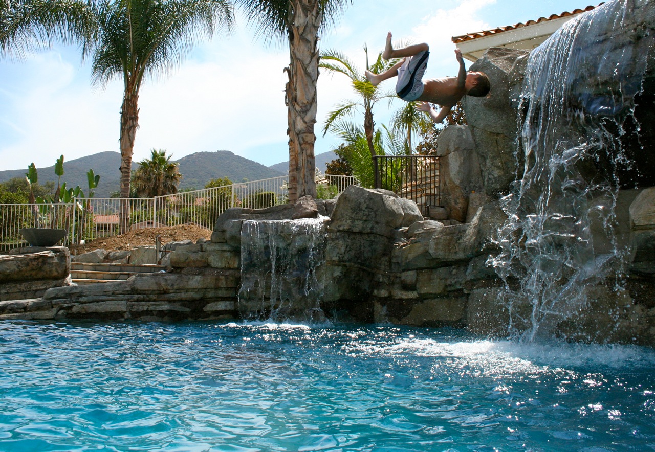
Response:
[[[56,160],[56,158],[54,158]],[[181,190],[185,188],[203,188],[210,179],[227,177],[233,182],[257,181],[258,179],[269,179],[286,175],[287,169],[276,171],[265,165],[253,162],[247,158],[235,155],[229,150],[217,150],[216,152],[196,152],[180,158],[179,172],[182,180],[179,184]],[[139,162],[132,162],[132,169],[136,169]],[[84,194],[88,193],[86,173],[93,169],[100,174],[100,184],[96,188],[96,198],[108,198],[111,192],[116,192],[121,187],[121,154],[119,152],[99,152],[91,156],[76,158],[74,160],[64,159],[64,175],[62,183],[68,187],[81,186]],[[288,166],[288,164],[287,164]],[[12,169],[0,171],[0,183],[9,181],[13,177],[25,177],[26,169]],[[39,183],[47,181],[57,183],[57,176],[54,173],[54,165],[45,168],[37,168]]]

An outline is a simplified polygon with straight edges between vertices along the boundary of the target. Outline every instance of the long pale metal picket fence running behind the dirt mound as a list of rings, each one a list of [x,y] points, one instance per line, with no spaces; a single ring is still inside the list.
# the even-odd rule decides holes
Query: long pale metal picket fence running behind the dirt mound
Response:
[[[155,198],[86,198],[75,203],[0,204],[0,250],[25,245],[22,228],[67,230],[64,245],[128,230],[196,224],[212,229],[229,207],[263,209],[288,202],[288,177],[274,177]],[[351,176],[320,175],[319,198],[333,198],[346,186],[358,184]],[[123,220],[123,221],[121,221]],[[123,231],[121,231],[123,224]]]

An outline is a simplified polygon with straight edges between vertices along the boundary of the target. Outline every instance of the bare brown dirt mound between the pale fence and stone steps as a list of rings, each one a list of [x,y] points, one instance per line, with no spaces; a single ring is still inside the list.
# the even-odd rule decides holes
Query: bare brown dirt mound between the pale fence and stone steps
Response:
[[[183,224],[181,226],[168,226],[166,228],[138,229],[116,237],[100,237],[84,245],[71,245],[73,254],[103,249],[106,251],[128,250],[134,247],[154,247],[157,235],[160,235],[162,245],[171,241],[209,239],[212,231],[200,226]]]

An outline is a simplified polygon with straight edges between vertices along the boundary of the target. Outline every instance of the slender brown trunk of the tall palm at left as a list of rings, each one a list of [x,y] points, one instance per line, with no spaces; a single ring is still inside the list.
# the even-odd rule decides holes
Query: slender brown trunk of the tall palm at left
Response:
[[[130,176],[132,175],[132,150],[134,149],[134,138],[136,129],[139,126],[138,94],[132,94],[128,87],[123,96],[121,107],[121,198],[130,198]],[[129,204],[121,202],[119,213],[121,223],[121,234],[128,230],[130,219]]]

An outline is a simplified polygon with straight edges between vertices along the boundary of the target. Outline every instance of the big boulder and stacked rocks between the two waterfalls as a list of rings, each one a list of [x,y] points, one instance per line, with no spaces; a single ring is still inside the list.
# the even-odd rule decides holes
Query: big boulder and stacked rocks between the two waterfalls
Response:
[[[505,220],[496,202],[444,226],[392,192],[348,187],[327,232],[325,307],[356,321],[476,324],[484,316],[469,298],[501,284],[487,259]]]

